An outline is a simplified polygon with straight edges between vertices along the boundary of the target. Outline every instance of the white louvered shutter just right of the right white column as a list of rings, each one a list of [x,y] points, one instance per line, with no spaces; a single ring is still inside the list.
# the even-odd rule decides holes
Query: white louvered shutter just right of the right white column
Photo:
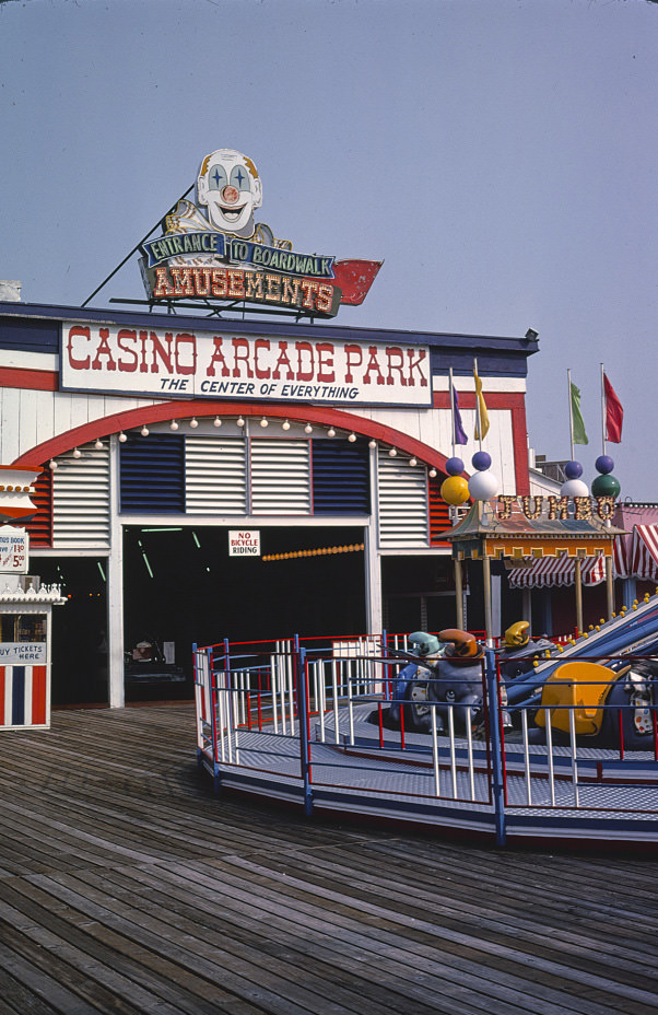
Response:
[[[377,462],[379,545],[427,546],[427,475],[423,466],[390,458],[379,451]]]

